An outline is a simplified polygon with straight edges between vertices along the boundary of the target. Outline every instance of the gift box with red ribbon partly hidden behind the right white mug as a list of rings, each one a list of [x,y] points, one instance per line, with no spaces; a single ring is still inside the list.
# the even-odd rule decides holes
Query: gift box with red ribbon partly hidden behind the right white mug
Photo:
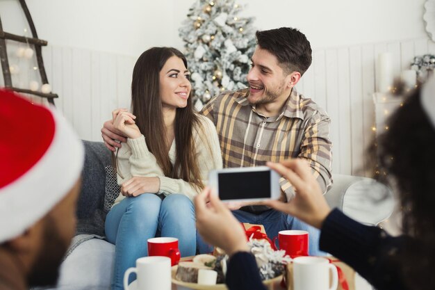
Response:
[[[355,290],[355,271],[334,257],[325,257],[337,267],[338,271],[338,288],[337,290]],[[286,285],[287,290],[293,290],[293,264],[286,266]]]

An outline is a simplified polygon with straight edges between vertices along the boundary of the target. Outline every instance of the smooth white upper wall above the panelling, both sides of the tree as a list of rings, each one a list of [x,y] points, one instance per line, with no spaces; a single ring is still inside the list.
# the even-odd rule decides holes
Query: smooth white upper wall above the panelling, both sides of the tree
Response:
[[[222,1],[222,0],[217,0]],[[23,33],[18,1],[1,0],[6,31]],[[193,0],[27,0],[40,38],[51,45],[137,57],[147,47],[181,48],[178,27]],[[292,26],[313,49],[425,37],[425,0],[240,0],[257,29]]]

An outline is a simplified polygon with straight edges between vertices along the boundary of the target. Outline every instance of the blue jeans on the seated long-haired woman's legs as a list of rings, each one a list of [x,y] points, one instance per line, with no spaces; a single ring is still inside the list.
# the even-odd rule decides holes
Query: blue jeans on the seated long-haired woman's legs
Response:
[[[124,198],[110,209],[105,228],[107,240],[115,244],[112,289],[124,289],[126,269],[148,255],[147,239],[172,236],[179,239],[182,257],[196,252],[195,208],[186,195],[167,195],[162,200],[159,195],[144,193]]]

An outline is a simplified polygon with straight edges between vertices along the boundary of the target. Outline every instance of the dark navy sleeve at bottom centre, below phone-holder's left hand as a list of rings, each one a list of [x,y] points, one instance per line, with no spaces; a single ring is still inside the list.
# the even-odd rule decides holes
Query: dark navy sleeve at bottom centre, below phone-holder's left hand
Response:
[[[249,252],[236,252],[229,259],[225,284],[229,290],[266,290],[255,257]]]

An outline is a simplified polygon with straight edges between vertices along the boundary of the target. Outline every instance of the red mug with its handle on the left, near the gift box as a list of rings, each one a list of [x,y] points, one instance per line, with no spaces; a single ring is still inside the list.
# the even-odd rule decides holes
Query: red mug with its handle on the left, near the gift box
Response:
[[[308,256],[308,232],[298,229],[289,229],[280,231],[278,236],[273,238],[273,243],[276,239],[279,241],[279,250],[285,250],[286,255],[291,258],[299,256]]]

